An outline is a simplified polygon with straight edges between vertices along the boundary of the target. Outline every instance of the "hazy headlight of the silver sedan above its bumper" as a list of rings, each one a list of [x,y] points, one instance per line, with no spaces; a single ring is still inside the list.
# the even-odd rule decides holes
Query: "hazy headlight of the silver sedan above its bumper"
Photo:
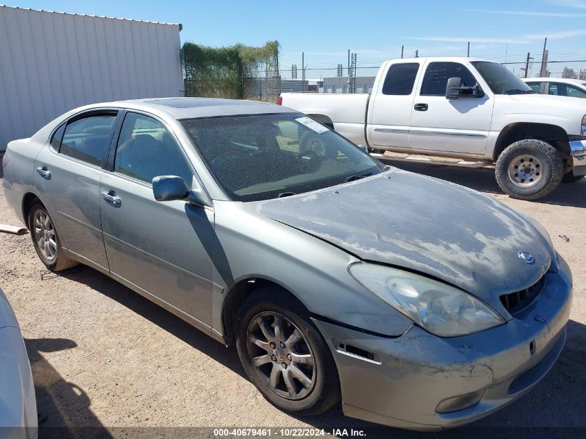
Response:
[[[348,270],[368,291],[437,336],[463,336],[506,321],[473,295],[429,277],[363,262]]]

